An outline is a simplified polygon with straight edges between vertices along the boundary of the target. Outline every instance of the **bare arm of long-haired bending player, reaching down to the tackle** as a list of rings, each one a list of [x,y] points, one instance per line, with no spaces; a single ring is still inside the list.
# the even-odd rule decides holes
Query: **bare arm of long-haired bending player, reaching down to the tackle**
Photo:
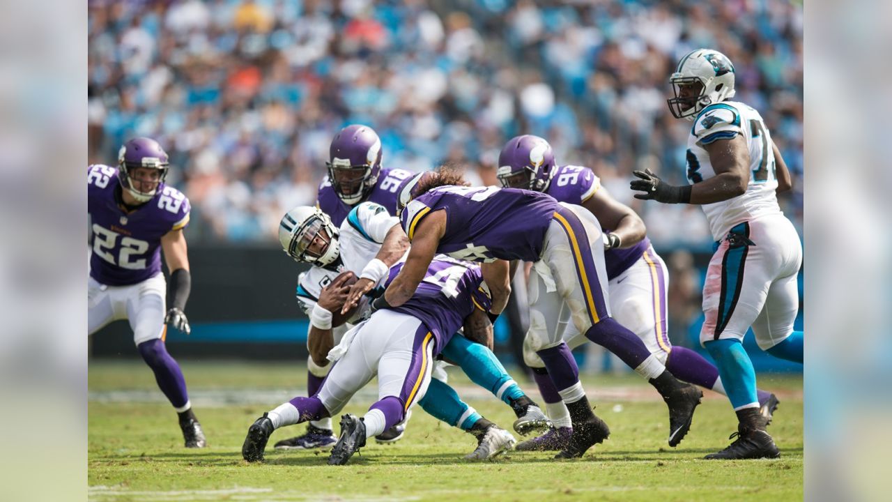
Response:
[[[417,223],[406,264],[402,265],[400,273],[393,278],[384,295],[375,300],[376,307],[400,306],[409,301],[418,284],[425,279],[427,267],[434,259],[445,231],[446,212],[442,210],[427,214]]]

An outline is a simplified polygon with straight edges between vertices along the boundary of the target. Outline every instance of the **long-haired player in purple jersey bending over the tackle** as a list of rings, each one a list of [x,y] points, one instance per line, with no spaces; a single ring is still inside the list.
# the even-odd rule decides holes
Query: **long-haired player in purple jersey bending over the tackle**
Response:
[[[670,411],[670,437],[690,428],[702,392],[681,383],[650,354],[634,333],[610,317],[607,272],[598,220],[578,205],[559,204],[539,192],[517,188],[467,188],[457,172],[418,175],[401,190],[401,222],[412,247],[400,275],[375,305],[399,306],[424,280],[437,253],[483,262],[483,279],[492,292],[491,316],[500,314],[510,293],[508,261],[534,262],[547,289],[557,290],[571,310],[576,328],[636,368],[659,390]],[[542,297],[542,296],[540,296]],[[573,434],[558,458],[582,456],[607,439],[609,429],[591,411],[579,370],[560,333],[531,330],[530,340],[570,411]]]

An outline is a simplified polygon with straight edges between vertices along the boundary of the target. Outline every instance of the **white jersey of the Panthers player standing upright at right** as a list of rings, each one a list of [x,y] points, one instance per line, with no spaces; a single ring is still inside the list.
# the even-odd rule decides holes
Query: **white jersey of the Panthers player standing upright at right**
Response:
[[[772,137],[762,115],[750,106],[725,101],[706,106],[694,121],[688,138],[687,170],[690,183],[715,176],[704,145],[719,139],[742,135],[749,146],[749,183],[747,191],[723,202],[703,205],[709,230],[716,241],[722,240],[734,225],[766,214],[781,214],[775,189]]]

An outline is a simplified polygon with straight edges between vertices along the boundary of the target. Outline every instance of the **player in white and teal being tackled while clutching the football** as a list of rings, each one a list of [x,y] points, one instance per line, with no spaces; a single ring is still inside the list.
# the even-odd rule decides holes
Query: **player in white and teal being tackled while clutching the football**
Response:
[[[360,305],[351,305],[342,312],[346,295],[341,284],[334,284],[340,272],[359,274],[359,280],[370,280],[377,285],[392,264],[404,255],[409,247],[408,239],[399,220],[384,207],[366,202],[351,210],[341,228],[335,228],[325,213],[318,208],[298,206],[285,214],[279,227],[279,238],[285,253],[296,261],[314,266],[301,273],[297,296],[301,306],[310,316],[308,347],[310,361],[316,367],[330,366],[326,356],[343,337],[345,322],[359,320]],[[334,289],[334,290],[333,290]],[[346,288],[349,290],[349,287]],[[491,344],[490,344],[491,346]],[[443,356],[458,364],[478,385],[499,397],[514,410],[517,420],[515,430],[528,434],[548,427],[541,408],[527,397],[508,372],[492,354],[491,349],[471,343],[463,337],[450,339],[442,348]],[[327,369],[327,368],[326,368]],[[308,389],[309,395],[317,394],[322,379],[316,387]],[[493,429],[470,406],[462,402],[453,389],[436,381],[421,401],[428,413],[450,425],[475,434],[478,450],[495,453],[508,446],[514,439],[505,431]],[[316,427],[316,426],[312,426]],[[384,434],[376,436],[378,442],[400,439],[404,431],[402,423],[395,424]],[[314,441],[310,443],[310,440]],[[308,434],[277,442],[276,448],[325,448],[335,441],[331,429],[310,429]],[[475,452],[478,456],[480,451]],[[473,455],[473,454],[472,454]]]

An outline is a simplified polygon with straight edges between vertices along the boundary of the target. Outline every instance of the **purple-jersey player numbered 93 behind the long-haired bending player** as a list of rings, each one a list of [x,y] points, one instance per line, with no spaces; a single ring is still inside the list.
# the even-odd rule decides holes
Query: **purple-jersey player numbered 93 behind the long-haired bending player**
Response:
[[[604,230],[604,261],[607,266],[607,291],[610,311],[617,322],[638,335],[654,356],[679,380],[724,394],[719,372],[703,356],[686,347],[673,347],[666,332],[666,293],[669,277],[663,259],[650,246],[644,222],[632,208],[617,202],[600,186],[600,180],[588,167],[558,166],[548,141],[532,135],[511,138],[499,155],[497,176],[506,188],[526,188],[546,193],[558,202],[582,205]],[[552,302],[536,296],[547,295],[541,279],[531,278],[530,299],[541,310],[530,313],[532,330],[563,330],[563,339],[571,348],[586,341],[569,322],[569,312],[560,308],[561,298],[550,295]],[[541,336],[530,337],[539,339]],[[553,428],[545,435],[517,445],[519,450],[563,449],[573,432],[570,416],[558,395],[548,370],[530,347],[524,347],[524,362],[533,368]],[[773,394],[759,390],[762,413],[771,419],[778,404]],[[670,446],[678,443],[670,440]]]

